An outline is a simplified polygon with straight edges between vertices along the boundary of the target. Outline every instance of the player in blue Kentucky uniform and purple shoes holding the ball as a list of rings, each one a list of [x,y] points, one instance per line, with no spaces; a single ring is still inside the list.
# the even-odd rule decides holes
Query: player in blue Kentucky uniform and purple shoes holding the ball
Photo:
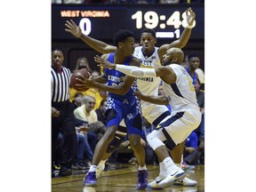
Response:
[[[116,52],[108,56],[110,62],[123,63],[125,66],[140,67],[140,60],[132,56],[134,51],[134,38],[131,31],[119,30],[114,37]],[[113,69],[105,69],[105,82],[95,79],[86,79],[84,76],[77,78],[81,84],[77,87],[95,87],[108,92],[107,98],[107,131],[97,143],[92,157],[92,165],[84,177],[85,186],[97,186],[96,170],[102,155],[106,153],[108,144],[114,139],[117,127],[124,119],[131,148],[139,163],[138,189],[147,188],[148,172],[145,164],[145,149],[140,145],[140,132],[142,131],[142,116],[140,100],[134,96],[138,90],[134,77],[126,76]],[[107,83],[107,84],[106,84]]]

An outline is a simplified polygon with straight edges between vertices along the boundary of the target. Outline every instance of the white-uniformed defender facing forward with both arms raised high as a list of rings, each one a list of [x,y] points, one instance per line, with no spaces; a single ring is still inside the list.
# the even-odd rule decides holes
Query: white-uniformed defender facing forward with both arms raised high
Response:
[[[195,12],[189,7],[186,10],[187,15],[187,27],[184,28],[180,39],[173,41],[171,44],[163,44],[160,47],[156,47],[156,32],[152,29],[145,28],[141,31],[140,36],[140,44],[141,46],[135,47],[133,55],[140,59],[140,68],[155,68],[161,66],[160,59],[164,55],[167,49],[171,47],[178,47],[183,48],[188,43],[189,36],[191,34],[193,22],[196,18]],[[115,52],[116,46],[105,44],[99,40],[96,40],[90,36],[85,36],[81,32],[81,28],[76,26],[76,23],[73,20],[70,22],[67,20],[65,26],[67,27],[65,30],[71,33],[73,36],[76,36],[84,41],[84,43],[90,45],[92,49],[96,50],[97,52],[101,52],[103,54],[109,52]],[[158,86],[160,84],[161,78],[160,77],[139,77],[137,79],[138,88],[140,92],[145,95],[150,96],[157,96],[158,95]],[[170,116],[169,109],[164,105],[156,105],[153,103],[149,103],[148,101],[141,100],[141,109],[142,115],[148,120],[150,124],[154,124],[156,127],[157,125],[166,117]],[[120,125],[123,125],[122,123]],[[123,125],[124,126],[124,125]],[[97,177],[99,176],[100,172],[104,169],[105,162],[108,159],[115,148],[118,148],[124,138],[126,132],[124,131],[124,127],[122,130],[118,129],[118,133],[116,133],[115,140],[113,140],[113,145],[111,145],[108,150],[107,154],[103,156],[104,159],[100,162],[99,169],[97,170]],[[118,139],[118,140],[117,140]],[[171,154],[174,159],[174,162],[177,164],[181,163],[181,156],[183,153],[184,143],[178,145],[174,149],[172,149]],[[160,164],[160,169],[162,169],[162,164]],[[102,168],[101,168],[102,167]],[[164,169],[164,168],[163,168]],[[185,178],[184,180],[177,181],[178,185],[182,186],[195,186],[197,184],[196,180],[189,180]],[[150,185],[150,183],[149,183]]]

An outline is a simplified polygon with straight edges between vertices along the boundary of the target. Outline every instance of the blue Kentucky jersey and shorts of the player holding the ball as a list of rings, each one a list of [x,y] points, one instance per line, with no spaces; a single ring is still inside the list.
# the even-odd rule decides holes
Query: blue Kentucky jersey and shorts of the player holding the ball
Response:
[[[124,61],[124,65],[129,66],[132,56]],[[114,53],[110,53],[108,60],[114,63]],[[124,84],[124,73],[116,69],[105,68],[105,75],[108,86],[120,86]],[[141,125],[141,108],[140,100],[133,95],[138,90],[137,82],[134,81],[129,92],[124,95],[108,92],[106,114],[108,116],[107,127],[111,125],[118,126],[124,118],[128,134],[140,134]],[[114,109],[114,110],[111,110]],[[111,111],[111,113],[110,113]],[[115,114],[113,114],[115,113]],[[110,115],[109,115],[110,114]]]

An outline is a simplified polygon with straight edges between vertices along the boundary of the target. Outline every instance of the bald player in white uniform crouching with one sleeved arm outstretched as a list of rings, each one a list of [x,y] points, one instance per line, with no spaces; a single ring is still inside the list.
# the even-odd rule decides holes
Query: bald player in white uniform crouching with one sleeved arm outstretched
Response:
[[[179,48],[168,49],[162,60],[162,66],[156,68],[126,67],[124,65],[112,64],[96,56],[94,60],[104,68],[115,68],[128,76],[134,77],[156,77],[159,76],[164,83],[166,96],[148,96],[137,92],[140,100],[172,106],[172,115],[166,116],[160,122],[159,128],[148,134],[147,140],[154,149],[160,164],[165,169],[161,170],[159,176],[148,185],[148,188],[169,188],[177,180],[183,180],[186,172],[173,163],[168,149],[164,145],[168,141],[168,148],[174,148],[177,144],[188,138],[201,122],[201,112],[196,101],[196,92],[192,84],[192,78],[187,70],[181,66],[184,53]]]

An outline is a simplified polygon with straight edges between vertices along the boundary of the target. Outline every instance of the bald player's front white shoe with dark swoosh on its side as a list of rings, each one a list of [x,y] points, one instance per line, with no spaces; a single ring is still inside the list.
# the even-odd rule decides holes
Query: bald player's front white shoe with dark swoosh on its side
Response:
[[[183,180],[186,176],[186,172],[184,172],[180,167],[173,166],[172,171],[174,173],[169,173],[164,180],[159,182],[159,186],[161,188],[170,188],[177,180]]]

